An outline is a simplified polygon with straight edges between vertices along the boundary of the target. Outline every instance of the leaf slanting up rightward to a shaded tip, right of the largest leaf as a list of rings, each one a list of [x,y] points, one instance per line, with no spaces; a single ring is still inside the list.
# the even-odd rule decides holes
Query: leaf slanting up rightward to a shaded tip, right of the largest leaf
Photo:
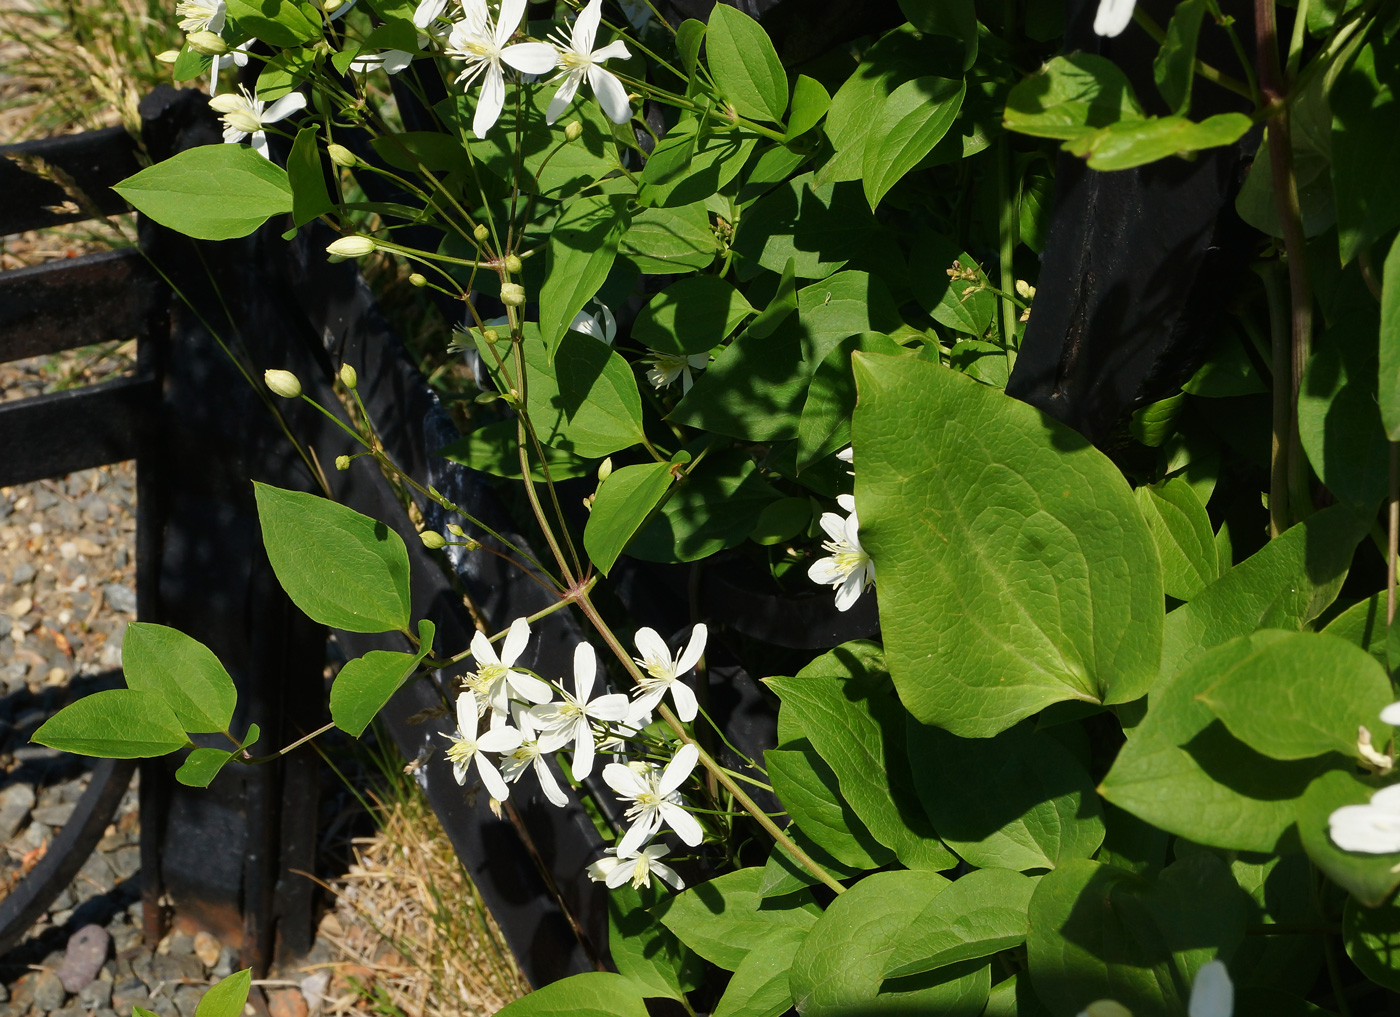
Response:
[[[1331,506],[1228,569],[1166,616],[1162,674],[1256,629],[1303,628],[1337,598],[1366,528],[1345,506]]]

